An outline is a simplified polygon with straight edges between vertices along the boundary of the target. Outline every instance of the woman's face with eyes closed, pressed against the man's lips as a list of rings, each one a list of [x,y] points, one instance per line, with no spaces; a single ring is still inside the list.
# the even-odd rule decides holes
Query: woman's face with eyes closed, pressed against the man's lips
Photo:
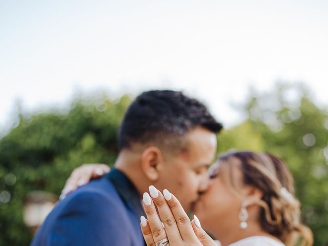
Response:
[[[243,194],[244,186],[242,183],[240,161],[232,157],[228,165],[232,165],[231,179],[235,188],[238,190],[238,193]],[[202,227],[212,234],[218,230],[218,227],[239,226],[238,214],[242,202],[242,199],[223,181],[220,172],[215,173],[217,173],[216,176],[213,175],[210,169],[211,183],[209,189],[200,196],[200,199],[193,208],[193,212],[199,218]]]

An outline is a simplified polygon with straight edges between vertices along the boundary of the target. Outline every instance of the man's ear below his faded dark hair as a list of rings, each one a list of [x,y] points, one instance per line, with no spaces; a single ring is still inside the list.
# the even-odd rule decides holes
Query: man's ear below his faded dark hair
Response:
[[[158,166],[163,162],[162,152],[157,147],[148,147],[141,154],[141,168],[151,181],[159,177]]]

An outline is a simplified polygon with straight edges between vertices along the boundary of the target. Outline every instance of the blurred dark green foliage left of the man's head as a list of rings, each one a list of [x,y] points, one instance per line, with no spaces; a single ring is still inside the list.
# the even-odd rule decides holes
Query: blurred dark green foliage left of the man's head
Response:
[[[0,245],[29,245],[32,235],[23,222],[28,192],[59,195],[81,163],[114,162],[117,128],[129,103],[128,96],[80,100],[68,113],[20,117],[19,125],[0,140],[0,192],[11,194],[8,203],[0,202]]]

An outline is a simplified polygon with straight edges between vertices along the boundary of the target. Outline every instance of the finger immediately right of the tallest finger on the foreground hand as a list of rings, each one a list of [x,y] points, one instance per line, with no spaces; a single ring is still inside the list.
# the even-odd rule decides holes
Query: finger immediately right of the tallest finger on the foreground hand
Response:
[[[196,240],[196,236],[191,226],[190,219],[186,214],[185,210],[183,210],[178,199],[168,190],[164,190],[163,193],[175,218],[182,239],[184,241]]]

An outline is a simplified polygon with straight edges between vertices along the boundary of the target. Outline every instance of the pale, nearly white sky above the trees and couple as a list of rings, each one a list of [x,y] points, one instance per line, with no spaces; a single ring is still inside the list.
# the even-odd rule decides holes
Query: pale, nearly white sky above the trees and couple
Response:
[[[0,0],[0,127],[23,108],[183,90],[227,127],[250,85],[305,81],[328,104],[328,1]]]

